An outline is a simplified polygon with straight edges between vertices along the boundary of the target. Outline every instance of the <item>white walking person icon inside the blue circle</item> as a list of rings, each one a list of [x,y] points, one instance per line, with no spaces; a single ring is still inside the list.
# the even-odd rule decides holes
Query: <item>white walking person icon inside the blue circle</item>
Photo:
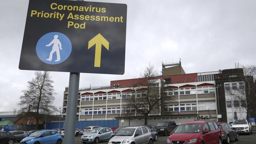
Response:
[[[52,46],[52,51],[50,52],[50,55],[49,55],[49,58],[46,59],[47,61],[52,61],[52,55],[54,52],[56,52],[57,54],[57,59],[55,61],[60,61],[60,54],[59,54],[59,49],[62,50],[61,48],[61,42],[59,41],[58,39],[58,35],[54,35],[54,39],[49,43],[49,44],[46,44],[46,46]]]

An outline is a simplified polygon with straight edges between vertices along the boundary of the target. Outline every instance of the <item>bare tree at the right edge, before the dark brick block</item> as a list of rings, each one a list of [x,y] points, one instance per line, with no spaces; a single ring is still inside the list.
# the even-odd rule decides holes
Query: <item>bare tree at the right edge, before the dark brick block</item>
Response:
[[[253,98],[256,94],[256,66],[243,66],[243,72],[244,76],[239,76],[239,81],[241,81],[241,83],[239,83],[239,87],[234,87],[226,92],[231,96],[235,105],[245,108],[247,112],[246,117],[247,120],[249,120],[251,107],[253,107],[253,105],[255,105],[254,103],[256,102]]]

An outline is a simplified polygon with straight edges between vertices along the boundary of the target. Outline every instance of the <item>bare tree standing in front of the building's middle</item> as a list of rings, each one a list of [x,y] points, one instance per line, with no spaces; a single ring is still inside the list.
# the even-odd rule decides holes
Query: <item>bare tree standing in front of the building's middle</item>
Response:
[[[158,73],[154,70],[153,65],[148,65],[141,74],[139,81],[134,83],[131,89],[134,89],[136,94],[132,94],[131,98],[127,99],[128,105],[135,109],[136,113],[145,116],[145,124],[148,124],[148,115],[159,111],[161,100],[161,88],[156,82]],[[153,112],[155,111],[155,112]]]

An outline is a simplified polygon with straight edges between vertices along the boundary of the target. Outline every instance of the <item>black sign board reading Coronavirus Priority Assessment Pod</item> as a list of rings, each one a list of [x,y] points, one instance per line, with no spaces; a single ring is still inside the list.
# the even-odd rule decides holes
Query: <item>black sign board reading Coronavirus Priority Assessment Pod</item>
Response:
[[[126,4],[30,0],[19,68],[124,74]]]

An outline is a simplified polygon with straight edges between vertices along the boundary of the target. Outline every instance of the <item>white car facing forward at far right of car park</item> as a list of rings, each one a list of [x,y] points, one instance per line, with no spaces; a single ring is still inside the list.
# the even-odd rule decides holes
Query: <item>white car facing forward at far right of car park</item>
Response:
[[[247,120],[235,120],[232,127],[234,127],[238,133],[247,133],[248,135],[252,133],[252,125],[247,122]]]

